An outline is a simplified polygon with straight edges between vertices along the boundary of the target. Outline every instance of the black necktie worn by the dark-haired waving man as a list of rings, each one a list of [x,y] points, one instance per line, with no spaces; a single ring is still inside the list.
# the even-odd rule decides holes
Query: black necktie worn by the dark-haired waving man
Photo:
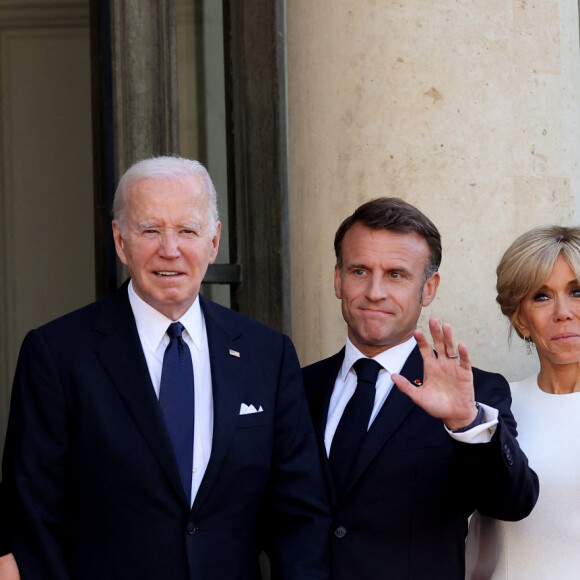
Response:
[[[382,368],[377,361],[370,358],[357,360],[353,367],[357,376],[356,390],[340,418],[328,457],[339,497],[346,491],[350,472],[367,434],[375,403],[375,383]]]

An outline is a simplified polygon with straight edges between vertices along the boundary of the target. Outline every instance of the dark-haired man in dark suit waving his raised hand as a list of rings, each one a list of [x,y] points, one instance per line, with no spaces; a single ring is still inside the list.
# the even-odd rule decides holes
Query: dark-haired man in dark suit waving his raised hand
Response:
[[[419,210],[370,201],[335,251],[346,347],[303,369],[331,495],[331,578],[463,580],[473,510],[516,520],[537,499],[509,387],[472,369],[449,325],[429,322],[438,356],[416,329],[441,262]]]

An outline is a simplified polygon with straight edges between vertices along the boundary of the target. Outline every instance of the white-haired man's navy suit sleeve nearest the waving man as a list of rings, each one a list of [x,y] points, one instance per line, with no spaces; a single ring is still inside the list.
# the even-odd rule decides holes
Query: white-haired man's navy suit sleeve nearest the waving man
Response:
[[[292,343],[284,337],[267,513],[274,580],[328,578],[329,504]]]

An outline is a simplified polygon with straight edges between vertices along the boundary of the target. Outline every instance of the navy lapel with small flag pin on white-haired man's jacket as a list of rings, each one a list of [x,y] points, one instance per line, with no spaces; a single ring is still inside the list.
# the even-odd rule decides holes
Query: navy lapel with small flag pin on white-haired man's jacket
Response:
[[[197,492],[194,509],[201,505],[219,473],[227,448],[234,436],[240,414],[240,376],[244,351],[240,346],[241,329],[229,311],[200,296],[207,330],[213,394],[213,437],[211,456]],[[231,354],[231,351],[239,354]]]

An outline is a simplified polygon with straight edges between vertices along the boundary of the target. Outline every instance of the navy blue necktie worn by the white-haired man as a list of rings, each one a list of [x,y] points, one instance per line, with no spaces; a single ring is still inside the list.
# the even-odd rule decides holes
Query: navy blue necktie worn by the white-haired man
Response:
[[[167,329],[169,344],[163,356],[159,404],[165,417],[169,438],[185,495],[191,502],[193,468],[193,365],[191,353],[181,333],[183,325],[173,322]]]

